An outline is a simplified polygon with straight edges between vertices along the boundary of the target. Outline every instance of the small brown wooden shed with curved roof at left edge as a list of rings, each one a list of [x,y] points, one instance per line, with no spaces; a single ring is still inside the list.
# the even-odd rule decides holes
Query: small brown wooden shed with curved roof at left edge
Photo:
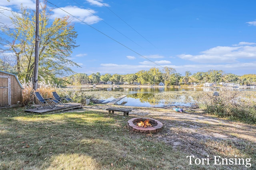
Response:
[[[0,71],[0,107],[22,102],[22,85],[15,74]]]

